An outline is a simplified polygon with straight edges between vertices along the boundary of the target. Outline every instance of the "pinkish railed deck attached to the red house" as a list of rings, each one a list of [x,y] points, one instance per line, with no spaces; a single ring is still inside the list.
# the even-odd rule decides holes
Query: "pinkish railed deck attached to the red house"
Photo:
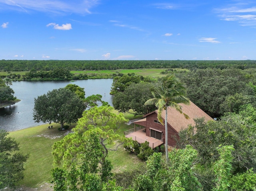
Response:
[[[157,146],[162,145],[164,142],[163,140],[155,139],[153,137],[148,137],[146,136],[146,132],[144,132],[145,129],[141,129],[138,131],[133,131],[134,129],[128,130],[124,132],[124,135],[126,138],[132,138],[132,140],[137,141],[138,143],[144,143],[144,142],[149,142],[149,146],[153,149],[156,148]]]

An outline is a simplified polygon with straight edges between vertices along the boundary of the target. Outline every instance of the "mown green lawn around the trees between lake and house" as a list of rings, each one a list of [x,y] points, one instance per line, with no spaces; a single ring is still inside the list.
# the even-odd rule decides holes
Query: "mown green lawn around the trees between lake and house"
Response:
[[[126,118],[131,120],[134,119],[134,116],[132,114],[126,114]],[[45,124],[10,132],[9,136],[15,138],[20,143],[20,151],[24,154],[29,154],[29,158],[25,164],[25,176],[21,185],[38,187],[42,183],[51,180],[50,171],[53,167],[52,145],[54,142],[61,140],[70,130],[58,131],[60,125],[52,125],[52,129],[48,129],[49,125]],[[123,132],[130,128],[133,128],[133,126],[122,124],[117,133],[123,135]],[[144,162],[136,156],[125,152],[122,146],[117,151],[110,151],[108,158],[114,165],[113,172],[134,169],[139,164],[144,165]]]

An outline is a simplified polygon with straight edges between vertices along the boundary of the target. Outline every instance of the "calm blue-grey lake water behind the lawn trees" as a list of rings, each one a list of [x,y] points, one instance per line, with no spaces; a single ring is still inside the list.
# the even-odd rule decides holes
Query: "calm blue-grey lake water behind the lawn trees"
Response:
[[[53,89],[63,88],[68,84],[76,84],[84,88],[85,96],[102,95],[102,100],[112,105],[110,93],[112,79],[88,79],[78,81],[19,81],[12,82],[14,96],[21,101],[5,108],[0,108],[0,129],[7,131],[20,130],[43,124],[33,120],[34,98],[46,94]]]

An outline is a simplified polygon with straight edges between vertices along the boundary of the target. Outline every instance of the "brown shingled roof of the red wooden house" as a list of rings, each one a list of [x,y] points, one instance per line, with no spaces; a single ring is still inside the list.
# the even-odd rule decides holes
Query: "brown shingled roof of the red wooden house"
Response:
[[[190,118],[186,119],[183,114],[180,114],[175,108],[168,107],[167,109],[167,122],[174,130],[177,132],[180,132],[182,128],[186,128],[189,124],[195,125],[194,118],[202,118],[204,117],[204,120],[209,121],[213,120],[208,114],[206,114],[203,110],[201,110],[198,106],[196,106],[192,101],[190,101],[189,105],[185,104],[179,104],[182,106],[182,112],[187,114]],[[144,117],[154,113],[158,112],[158,110],[155,110],[153,112],[150,112]],[[165,119],[165,110],[162,111],[162,118]],[[136,121],[138,122],[138,121]]]

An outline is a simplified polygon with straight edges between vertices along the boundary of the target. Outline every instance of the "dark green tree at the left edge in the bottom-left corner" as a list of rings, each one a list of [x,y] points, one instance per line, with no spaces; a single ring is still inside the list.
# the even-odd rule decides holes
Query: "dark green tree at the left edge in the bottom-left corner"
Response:
[[[24,163],[28,159],[28,155],[17,152],[18,143],[7,135],[8,132],[0,130],[0,189],[18,186],[24,177]]]

